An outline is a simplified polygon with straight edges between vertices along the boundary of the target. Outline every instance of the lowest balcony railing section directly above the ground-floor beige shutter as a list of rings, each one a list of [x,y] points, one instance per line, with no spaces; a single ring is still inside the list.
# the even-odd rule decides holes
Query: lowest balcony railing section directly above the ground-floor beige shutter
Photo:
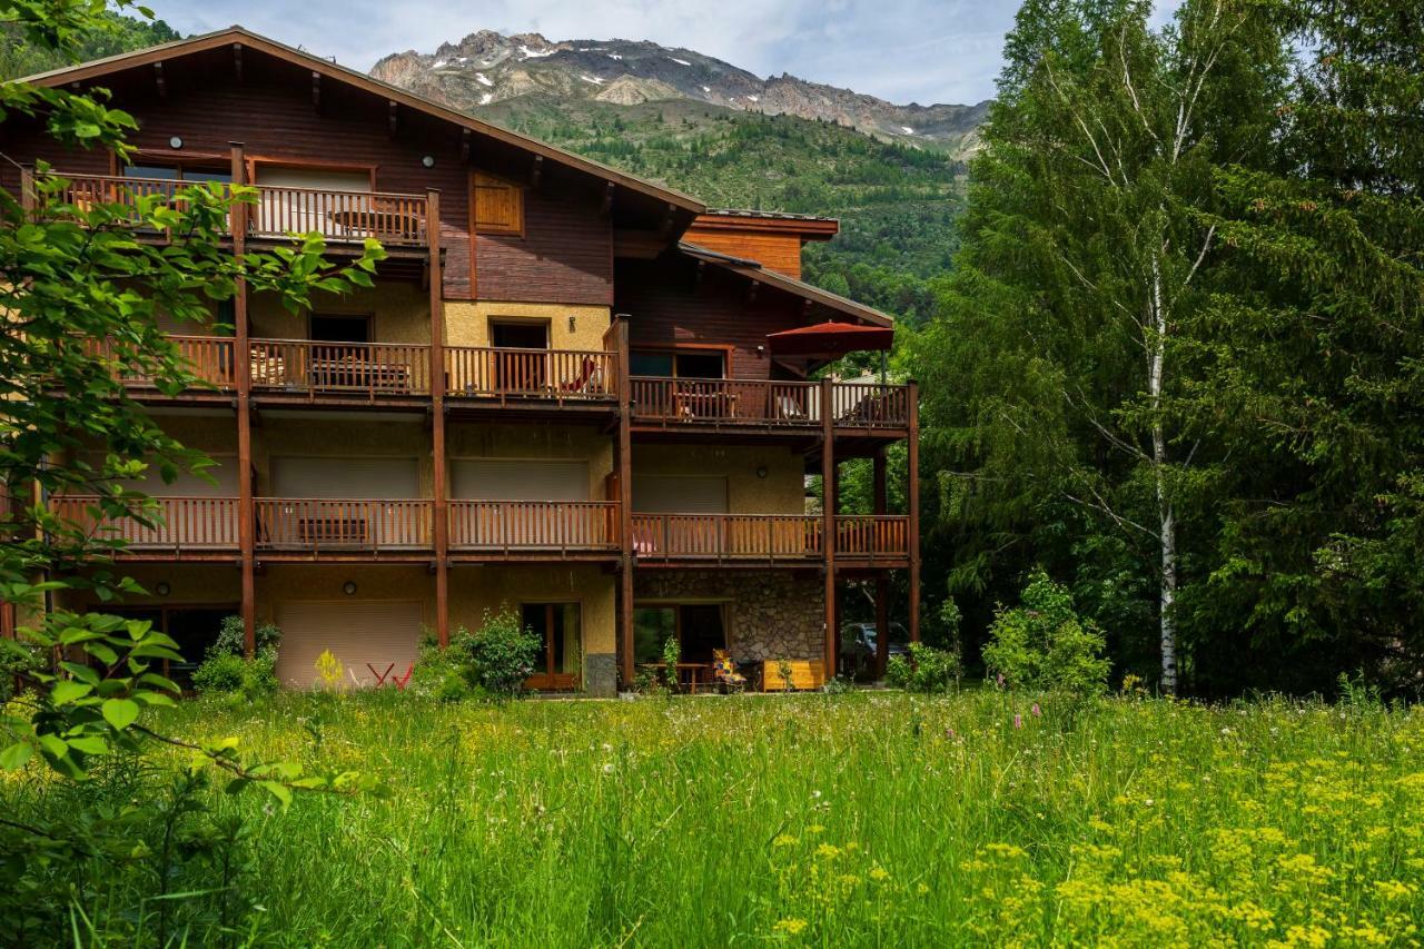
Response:
[[[431,546],[429,500],[256,497],[261,550],[383,551]]]

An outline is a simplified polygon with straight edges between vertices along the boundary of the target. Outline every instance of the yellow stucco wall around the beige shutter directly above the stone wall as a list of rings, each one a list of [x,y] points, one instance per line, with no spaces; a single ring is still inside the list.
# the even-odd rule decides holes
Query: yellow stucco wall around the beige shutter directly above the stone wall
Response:
[[[756,470],[765,467],[766,477]],[[733,514],[806,513],[805,462],[785,446],[634,445],[632,483],[648,474],[726,477]]]

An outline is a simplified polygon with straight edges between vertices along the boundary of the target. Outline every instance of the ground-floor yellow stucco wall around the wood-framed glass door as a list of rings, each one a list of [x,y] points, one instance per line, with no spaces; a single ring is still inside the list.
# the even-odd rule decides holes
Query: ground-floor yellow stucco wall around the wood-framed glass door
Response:
[[[484,610],[501,606],[580,603],[584,655],[612,654],[615,581],[594,564],[456,564],[450,567],[450,630],[473,630]]]

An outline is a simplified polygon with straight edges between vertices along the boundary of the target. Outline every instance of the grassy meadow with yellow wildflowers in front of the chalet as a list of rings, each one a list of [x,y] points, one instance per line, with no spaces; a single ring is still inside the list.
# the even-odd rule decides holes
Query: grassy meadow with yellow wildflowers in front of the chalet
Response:
[[[988,690],[504,708],[283,695],[162,724],[382,778],[382,795],[286,811],[204,792],[245,818],[255,908],[239,928],[259,945],[1418,940],[1424,714],[1038,711]],[[0,778],[0,808],[66,807],[73,792],[38,775]],[[171,892],[214,885],[182,872]],[[120,902],[100,891],[83,909]]]

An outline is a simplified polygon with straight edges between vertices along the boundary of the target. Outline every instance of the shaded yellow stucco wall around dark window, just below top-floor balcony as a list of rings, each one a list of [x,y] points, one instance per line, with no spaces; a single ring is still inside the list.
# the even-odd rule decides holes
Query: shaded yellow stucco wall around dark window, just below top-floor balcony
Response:
[[[310,312],[370,316],[370,336],[375,342],[430,342],[430,294],[416,281],[382,279],[370,289],[346,295],[313,294]],[[306,311],[290,313],[272,294],[252,296],[248,302],[248,323],[256,339],[309,338]]]

